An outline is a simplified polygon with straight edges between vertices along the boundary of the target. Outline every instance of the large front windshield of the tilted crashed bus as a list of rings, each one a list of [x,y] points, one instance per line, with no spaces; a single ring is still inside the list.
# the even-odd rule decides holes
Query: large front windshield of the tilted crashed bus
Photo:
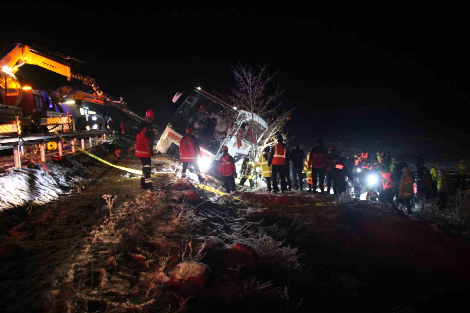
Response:
[[[220,141],[231,135],[237,116],[236,110],[215,97],[194,90],[172,117],[170,125],[180,134],[190,127],[199,144],[216,154]]]

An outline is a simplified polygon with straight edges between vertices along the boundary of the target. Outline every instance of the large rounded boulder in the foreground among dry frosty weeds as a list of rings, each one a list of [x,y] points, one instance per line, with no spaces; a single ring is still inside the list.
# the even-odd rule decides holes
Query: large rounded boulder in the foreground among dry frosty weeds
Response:
[[[182,294],[191,294],[204,287],[211,274],[209,266],[196,262],[181,262],[168,273],[168,284]]]

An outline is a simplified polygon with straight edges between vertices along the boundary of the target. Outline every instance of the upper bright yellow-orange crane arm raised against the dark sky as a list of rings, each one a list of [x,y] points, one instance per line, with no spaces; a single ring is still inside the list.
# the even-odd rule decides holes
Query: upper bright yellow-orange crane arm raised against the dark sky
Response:
[[[103,96],[103,92],[95,85],[96,82],[94,78],[79,74],[78,69],[84,63],[71,56],[18,43],[0,60],[0,70],[15,74],[24,64],[37,65],[44,69],[51,70],[67,77],[69,81],[72,78],[77,79],[84,85],[91,86],[98,96]]]

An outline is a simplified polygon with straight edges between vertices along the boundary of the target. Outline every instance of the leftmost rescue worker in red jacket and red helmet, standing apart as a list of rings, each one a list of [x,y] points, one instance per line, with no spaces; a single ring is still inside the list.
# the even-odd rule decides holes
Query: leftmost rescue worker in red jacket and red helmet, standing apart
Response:
[[[154,115],[153,110],[148,110],[145,113],[143,122],[137,127],[135,142],[135,155],[139,157],[142,163],[141,189],[149,189],[150,191],[156,190],[152,188],[152,180],[150,178],[150,172],[152,171],[150,158],[152,157],[153,148],[152,121]]]

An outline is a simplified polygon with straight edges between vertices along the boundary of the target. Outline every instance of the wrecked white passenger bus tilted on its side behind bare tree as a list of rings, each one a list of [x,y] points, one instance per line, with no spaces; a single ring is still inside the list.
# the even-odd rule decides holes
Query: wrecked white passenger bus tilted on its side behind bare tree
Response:
[[[156,149],[161,153],[177,153],[180,139],[187,127],[193,130],[201,148],[202,157],[198,164],[202,172],[207,172],[214,160],[221,155],[222,146],[227,146],[231,156],[248,156],[256,141],[263,138],[267,130],[264,119],[245,110],[237,110],[223,96],[209,93],[200,87],[187,96],[177,93],[173,102],[180,104]],[[257,129],[258,138],[251,131]]]

